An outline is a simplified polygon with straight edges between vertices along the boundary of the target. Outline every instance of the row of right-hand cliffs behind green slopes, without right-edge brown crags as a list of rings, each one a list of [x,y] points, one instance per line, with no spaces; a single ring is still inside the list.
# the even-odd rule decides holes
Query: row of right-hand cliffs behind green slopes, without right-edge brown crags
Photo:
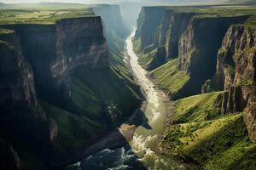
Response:
[[[146,19],[152,16],[148,14],[150,10],[145,12],[146,9],[142,8],[137,20],[135,39],[141,42],[139,53],[146,54],[143,60],[148,62],[147,69],[154,70],[168,60],[177,58],[177,70],[189,75],[189,81],[176,94],[171,94],[172,99],[201,93],[202,84],[215,73],[218,48],[229,26],[244,22],[248,17],[246,14],[204,14],[196,8],[148,7],[153,11],[150,14],[161,11],[157,21],[149,22]],[[143,37],[143,32],[154,37],[148,41],[150,36]],[[143,44],[147,44],[147,47]],[[152,50],[156,50],[156,53],[152,53]]]

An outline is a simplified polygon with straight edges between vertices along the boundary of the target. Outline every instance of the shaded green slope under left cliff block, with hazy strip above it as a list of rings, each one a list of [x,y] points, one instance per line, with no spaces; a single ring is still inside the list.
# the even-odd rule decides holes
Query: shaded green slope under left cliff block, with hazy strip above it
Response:
[[[84,116],[102,122],[102,115],[108,114],[112,122],[108,125],[115,127],[140,106],[142,95],[124,61],[125,42],[106,29],[109,66],[93,69],[81,65],[74,69],[71,96],[74,107]]]

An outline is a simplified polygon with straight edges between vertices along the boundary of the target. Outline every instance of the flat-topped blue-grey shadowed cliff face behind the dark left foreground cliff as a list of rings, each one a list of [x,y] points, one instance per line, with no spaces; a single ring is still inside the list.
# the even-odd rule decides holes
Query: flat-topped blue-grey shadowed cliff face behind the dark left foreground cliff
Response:
[[[108,65],[100,17],[62,19],[55,25],[6,26],[20,37],[24,56],[35,74],[38,95],[68,100],[69,71],[78,65]],[[52,97],[51,97],[52,98]]]

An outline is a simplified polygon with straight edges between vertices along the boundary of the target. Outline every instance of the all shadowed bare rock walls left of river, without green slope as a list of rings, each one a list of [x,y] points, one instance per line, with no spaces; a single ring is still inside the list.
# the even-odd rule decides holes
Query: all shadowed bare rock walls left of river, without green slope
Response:
[[[46,116],[38,99],[65,108],[73,68],[108,66],[101,17],[3,27],[13,32],[0,34],[1,138],[50,162],[61,155],[55,141],[58,126]]]

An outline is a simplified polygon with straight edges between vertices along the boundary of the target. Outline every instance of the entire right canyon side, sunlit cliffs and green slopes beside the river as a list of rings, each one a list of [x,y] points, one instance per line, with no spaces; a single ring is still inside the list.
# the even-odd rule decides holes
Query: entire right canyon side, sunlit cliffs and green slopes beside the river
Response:
[[[166,10],[152,46],[166,58],[140,56],[166,59],[150,77],[174,100],[155,150],[195,169],[255,169],[255,8],[240,12]]]

